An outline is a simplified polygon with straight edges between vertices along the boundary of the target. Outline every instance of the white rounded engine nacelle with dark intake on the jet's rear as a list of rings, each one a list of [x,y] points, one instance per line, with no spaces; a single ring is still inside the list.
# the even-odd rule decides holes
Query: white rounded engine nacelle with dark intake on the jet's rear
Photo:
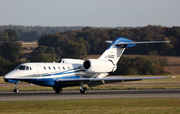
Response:
[[[111,61],[99,60],[99,59],[87,59],[83,63],[83,67],[86,72],[89,73],[105,73],[114,72],[116,66]]]

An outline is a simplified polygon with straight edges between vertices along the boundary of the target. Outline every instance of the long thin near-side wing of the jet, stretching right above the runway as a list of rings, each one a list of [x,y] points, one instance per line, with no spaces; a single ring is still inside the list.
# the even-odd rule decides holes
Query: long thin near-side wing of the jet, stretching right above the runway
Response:
[[[165,78],[175,78],[174,76],[166,76],[166,77],[128,77],[123,78],[122,76],[117,77],[105,77],[105,78],[78,78],[78,79],[57,79],[56,83],[62,85],[73,85],[73,84],[87,84],[89,87],[108,84],[108,83],[116,83],[116,82],[127,82],[127,81],[141,81],[143,79],[165,79]]]

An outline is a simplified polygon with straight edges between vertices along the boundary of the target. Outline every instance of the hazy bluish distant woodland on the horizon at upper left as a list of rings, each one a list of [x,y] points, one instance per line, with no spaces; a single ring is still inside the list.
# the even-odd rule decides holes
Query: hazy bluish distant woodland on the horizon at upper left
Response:
[[[22,26],[22,25],[0,25],[0,31],[12,29],[17,32],[19,41],[38,41],[39,37],[45,34],[55,34],[57,32],[82,30],[84,26]],[[106,29],[108,27],[91,27],[92,29]],[[118,27],[122,29],[124,27]]]

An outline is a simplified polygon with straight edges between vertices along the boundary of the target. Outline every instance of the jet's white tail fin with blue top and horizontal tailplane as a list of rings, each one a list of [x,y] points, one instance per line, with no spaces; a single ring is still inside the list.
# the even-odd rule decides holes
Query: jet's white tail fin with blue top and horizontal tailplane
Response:
[[[107,50],[105,50],[105,52],[98,59],[110,60],[113,62],[113,64],[116,65],[126,48],[133,47],[136,44],[166,43],[166,42],[170,42],[170,41],[133,42],[132,40],[129,40],[127,38],[118,37],[113,42],[112,41],[107,41],[107,42],[111,43],[111,45],[109,46],[109,48]]]

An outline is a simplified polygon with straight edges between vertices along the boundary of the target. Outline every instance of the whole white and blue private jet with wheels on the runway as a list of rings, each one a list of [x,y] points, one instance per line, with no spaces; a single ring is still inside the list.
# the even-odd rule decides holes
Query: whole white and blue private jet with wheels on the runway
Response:
[[[126,81],[139,81],[143,79],[164,79],[172,77],[133,77],[122,76],[106,77],[117,69],[117,62],[124,50],[136,44],[167,43],[170,41],[133,42],[127,38],[118,37],[115,41],[106,41],[111,45],[98,59],[60,59],[53,63],[23,63],[4,76],[5,82],[15,83],[14,92],[19,92],[16,84],[28,82],[41,86],[53,87],[56,93],[62,88],[79,86],[80,93],[86,93],[89,87]]]

